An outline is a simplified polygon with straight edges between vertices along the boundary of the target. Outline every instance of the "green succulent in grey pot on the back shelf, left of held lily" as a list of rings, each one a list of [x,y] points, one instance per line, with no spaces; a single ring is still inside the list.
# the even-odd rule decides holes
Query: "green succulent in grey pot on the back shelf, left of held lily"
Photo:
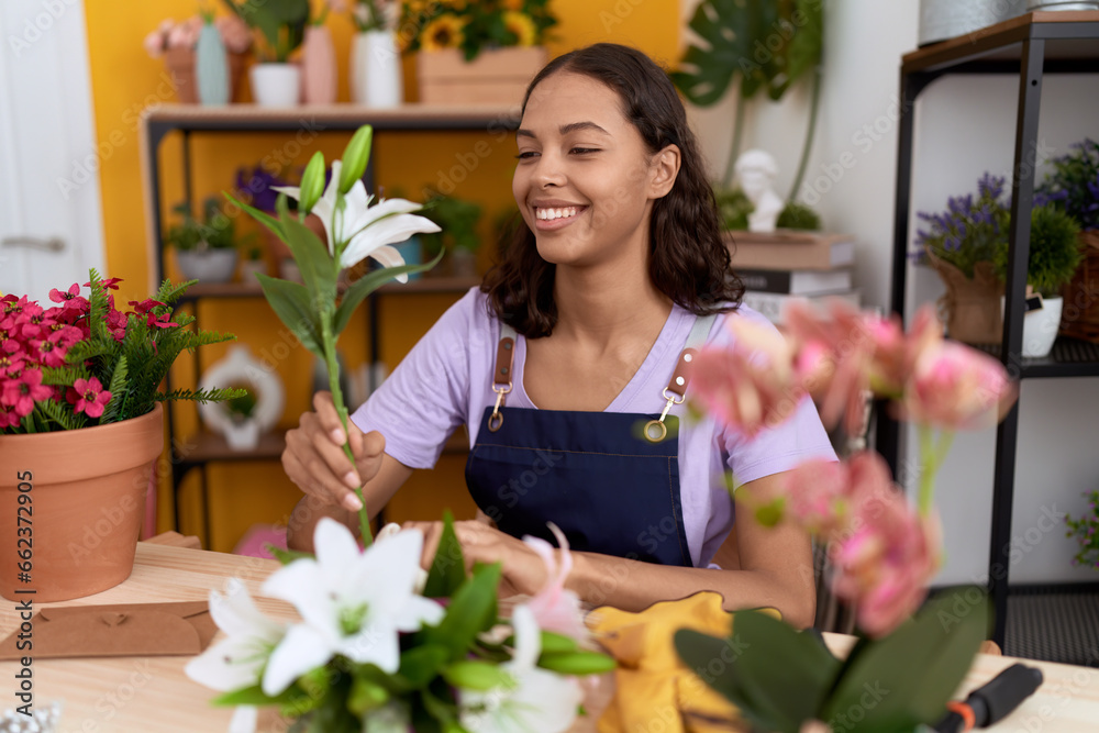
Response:
[[[179,270],[188,280],[229,282],[236,270],[236,238],[233,220],[217,197],[202,202],[202,215],[196,218],[186,201],[173,211],[180,221],[168,229],[164,245],[176,251]]]

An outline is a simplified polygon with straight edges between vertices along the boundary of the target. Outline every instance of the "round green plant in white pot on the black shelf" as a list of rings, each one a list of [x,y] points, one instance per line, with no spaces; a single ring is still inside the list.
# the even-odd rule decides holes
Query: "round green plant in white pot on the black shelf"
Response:
[[[1026,295],[1041,296],[1042,307],[1026,312],[1023,320],[1023,356],[1045,356],[1053,348],[1061,324],[1064,299],[1061,289],[1084,258],[1077,237],[1080,226],[1064,211],[1046,204],[1031,212],[1030,258],[1026,263]],[[997,244],[992,257],[996,276],[1008,277],[1008,243]]]

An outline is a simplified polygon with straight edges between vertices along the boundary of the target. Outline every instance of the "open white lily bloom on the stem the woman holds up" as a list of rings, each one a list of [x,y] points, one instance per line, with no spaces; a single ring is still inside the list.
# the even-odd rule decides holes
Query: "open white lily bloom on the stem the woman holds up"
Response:
[[[317,214],[324,225],[329,254],[335,255],[336,242],[349,240],[340,257],[342,268],[354,267],[367,257],[374,257],[384,267],[398,267],[404,264],[404,258],[397,247],[390,245],[403,242],[413,234],[440,231],[435,222],[412,214],[422,208],[419,203],[406,199],[382,199],[371,207],[373,197],[367,196],[360,180],[356,180],[344,195],[344,210],[336,216],[341,165],[340,160],[332,162],[332,178],[311,213]],[[274,189],[296,201],[301,198],[301,189],[297,186],[276,186]],[[408,282],[408,275],[397,277],[399,282]]]

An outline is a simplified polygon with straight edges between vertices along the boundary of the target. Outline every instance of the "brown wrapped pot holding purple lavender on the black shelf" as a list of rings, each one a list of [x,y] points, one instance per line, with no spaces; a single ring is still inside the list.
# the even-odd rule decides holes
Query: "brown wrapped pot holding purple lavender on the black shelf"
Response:
[[[939,304],[946,314],[946,333],[967,344],[998,344],[1003,340],[1000,298],[1003,284],[992,271],[992,263],[974,266],[973,279],[957,267],[928,252],[928,262],[946,285]]]

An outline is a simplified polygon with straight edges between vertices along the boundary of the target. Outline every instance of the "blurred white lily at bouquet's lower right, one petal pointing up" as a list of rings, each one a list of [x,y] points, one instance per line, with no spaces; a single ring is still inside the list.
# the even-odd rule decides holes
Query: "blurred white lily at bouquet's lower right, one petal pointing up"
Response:
[[[542,653],[542,632],[530,608],[517,606],[511,623],[514,655],[500,667],[511,674],[514,685],[488,691],[459,688],[458,721],[477,733],[567,731],[584,699],[579,682],[535,666]]]

